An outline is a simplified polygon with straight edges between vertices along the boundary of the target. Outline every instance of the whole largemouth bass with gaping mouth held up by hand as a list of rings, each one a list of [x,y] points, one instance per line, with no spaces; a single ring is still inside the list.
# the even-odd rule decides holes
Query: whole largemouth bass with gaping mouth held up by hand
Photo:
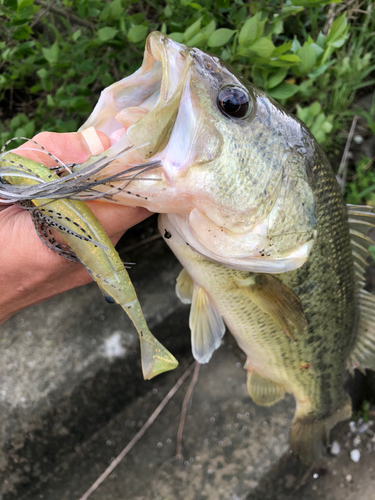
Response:
[[[164,214],[195,358],[209,361],[226,325],[247,355],[250,396],[271,405],[292,393],[291,449],[319,457],[351,415],[346,367],[375,368],[375,300],[363,289],[371,209],[347,209],[302,122],[218,57],[161,33],[142,67],[102,93],[89,127],[112,146],[75,171],[106,162],[97,191]],[[147,161],[157,165],[147,178],[106,180]]]

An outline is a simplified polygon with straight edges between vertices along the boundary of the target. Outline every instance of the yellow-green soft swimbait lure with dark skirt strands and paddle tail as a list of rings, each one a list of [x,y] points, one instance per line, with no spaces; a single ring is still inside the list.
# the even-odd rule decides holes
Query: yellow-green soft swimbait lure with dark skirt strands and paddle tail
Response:
[[[61,171],[64,167],[60,165],[55,170]],[[142,165],[135,170],[145,171],[150,167],[152,165]],[[108,235],[83,201],[69,198],[75,191],[77,178],[86,186],[86,199],[96,197],[94,188],[98,182],[90,181],[96,172],[95,165],[79,173],[72,173],[69,167],[66,170],[68,175],[60,178],[56,171],[40,163],[3,151],[0,155],[0,201],[21,203],[31,213],[42,241],[61,256],[82,263],[107,301],[116,302],[124,309],[139,334],[145,379],[173,370],[178,362],[148,329],[129,274]],[[131,177],[126,177],[127,182],[129,179]],[[47,193],[54,199],[48,198]],[[61,234],[66,245],[56,242],[51,229]]]

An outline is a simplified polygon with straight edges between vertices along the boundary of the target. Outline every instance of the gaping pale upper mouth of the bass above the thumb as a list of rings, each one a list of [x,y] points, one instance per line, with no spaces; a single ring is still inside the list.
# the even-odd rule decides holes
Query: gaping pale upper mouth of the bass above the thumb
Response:
[[[104,132],[116,145],[109,155],[131,145],[145,159],[155,156],[169,141],[192,60],[185,45],[151,33],[141,68],[102,92],[80,131]]]

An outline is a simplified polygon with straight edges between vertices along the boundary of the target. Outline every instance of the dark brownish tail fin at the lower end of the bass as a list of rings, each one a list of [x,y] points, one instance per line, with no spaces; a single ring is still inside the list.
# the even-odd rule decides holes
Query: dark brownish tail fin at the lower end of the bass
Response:
[[[290,430],[290,449],[304,464],[320,458],[328,444],[331,429],[342,420],[350,418],[352,403],[348,395],[328,417],[314,420],[298,418]]]

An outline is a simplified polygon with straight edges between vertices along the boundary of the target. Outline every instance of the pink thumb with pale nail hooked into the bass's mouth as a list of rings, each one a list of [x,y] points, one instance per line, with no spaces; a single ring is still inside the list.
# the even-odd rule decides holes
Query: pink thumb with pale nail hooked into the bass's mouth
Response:
[[[56,165],[56,161],[48,153],[52,153],[63,163],[82,163],[90,156],[102,153],[109,146],[110,140],[104,132],[90,127],[83,132],[62,134],[41,132],[32,141],[27,141],[17,148],[15,152],[30,160],[43,163],[47,167],[52,167]]]

